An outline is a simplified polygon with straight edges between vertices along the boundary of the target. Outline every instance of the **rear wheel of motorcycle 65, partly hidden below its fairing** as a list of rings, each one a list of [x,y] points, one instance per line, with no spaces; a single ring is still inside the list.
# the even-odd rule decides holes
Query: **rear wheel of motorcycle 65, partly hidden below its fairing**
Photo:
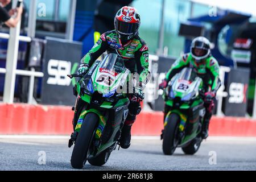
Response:
[[[88,162],[93,166],[103,166],[104,164],[106,164],[106,162],[108,162],[109,156],[113,151],[114,147],[115,143],[112,146],[106,148],[103,152],[101,152],[101,154],[97,155],[96,157],[88,159]]]

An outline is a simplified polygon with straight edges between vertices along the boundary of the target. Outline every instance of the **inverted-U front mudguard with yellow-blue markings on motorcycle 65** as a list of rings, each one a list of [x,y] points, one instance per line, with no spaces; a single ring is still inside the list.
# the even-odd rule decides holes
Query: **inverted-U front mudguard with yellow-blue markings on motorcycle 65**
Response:
[[[75,131],[79,132],[80,129],[81,129],[81,126],[82,126],[82,122],[84,121],[84,118],[85,118],[85,115],[88,114],[88,113],[95,113],[98,115],[98,117],[100,118],[100,123],[98,125],[98,128],[96,130],[96,139],[100,139],[101,138],[101,135],[104,131],[104,128],[106,126],[106,119],[100,114],[100,112],[98,112],[97,110],[94,110],[94,109],[90,109],[90,110],[85,110],[85,111],[82,111],[80,117],[79,117],[79,120],[77,121],[77,125],[76,125],[76,129]]]

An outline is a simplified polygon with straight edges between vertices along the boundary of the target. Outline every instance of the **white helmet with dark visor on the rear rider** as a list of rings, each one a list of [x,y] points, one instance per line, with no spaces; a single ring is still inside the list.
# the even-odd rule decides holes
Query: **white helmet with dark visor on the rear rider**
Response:
[[[195,49],[201,49],[203,51],[200,52],[200,55],[198,55],[195,52]],[[203,36],[195,38],[192,41],[190,52],[196,62],[200,63],[202,60],[206,59],[210,55],[210,41]]]

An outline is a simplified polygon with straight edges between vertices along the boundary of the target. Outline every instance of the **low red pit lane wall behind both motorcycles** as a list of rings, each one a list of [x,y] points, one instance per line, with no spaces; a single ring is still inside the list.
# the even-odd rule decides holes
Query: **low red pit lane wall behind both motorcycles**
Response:
[[[2,135],[69,135],[72,133],[73,111],[67,106],[0,104]],[[142,112],[132,128],[132,135],[160,135],[163,113]],[[210,136],[256,137],[256,121],[247,118],[213,117]]]

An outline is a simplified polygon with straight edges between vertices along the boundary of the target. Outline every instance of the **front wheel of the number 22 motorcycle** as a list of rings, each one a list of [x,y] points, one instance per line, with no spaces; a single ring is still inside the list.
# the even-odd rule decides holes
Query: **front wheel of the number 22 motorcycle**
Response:
[[[163,134],[163,152],[165,155],[172,155],[179,143],[177,133],[179,129],[179,115],[173,113],[168,118],[168,123],[164,127]]]

